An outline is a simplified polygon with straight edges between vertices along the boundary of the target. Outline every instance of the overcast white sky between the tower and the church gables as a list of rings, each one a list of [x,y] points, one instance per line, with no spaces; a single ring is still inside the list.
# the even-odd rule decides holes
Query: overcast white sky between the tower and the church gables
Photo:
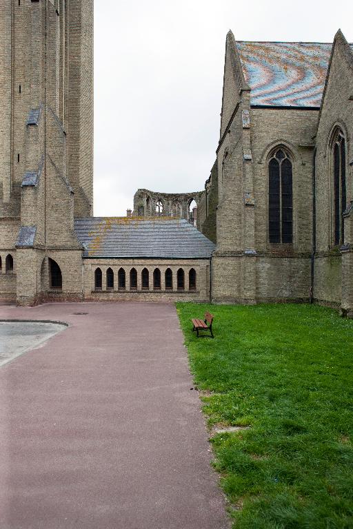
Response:
[[[94,215],[134,192],[203,189],[219,139],[225,36],[353,41],[353,1],[96,0]]]

